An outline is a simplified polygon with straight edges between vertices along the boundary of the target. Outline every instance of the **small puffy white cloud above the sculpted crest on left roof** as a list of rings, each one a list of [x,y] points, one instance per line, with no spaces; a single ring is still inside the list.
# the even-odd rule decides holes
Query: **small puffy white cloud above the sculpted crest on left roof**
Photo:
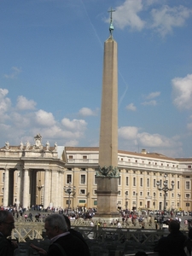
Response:
[[[55,119],[52,113],[48,113],[42,109],[35,112],[35,119],[38,125],[52,126],[55,125]]]

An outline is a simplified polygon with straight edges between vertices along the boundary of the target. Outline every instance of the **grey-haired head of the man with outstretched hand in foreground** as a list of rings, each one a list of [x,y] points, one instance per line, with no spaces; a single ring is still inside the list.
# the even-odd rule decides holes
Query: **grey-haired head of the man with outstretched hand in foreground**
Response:
[[[65,218],[61,214],[51,214],[45,218],[44,229],[49,239],[67,231]]]

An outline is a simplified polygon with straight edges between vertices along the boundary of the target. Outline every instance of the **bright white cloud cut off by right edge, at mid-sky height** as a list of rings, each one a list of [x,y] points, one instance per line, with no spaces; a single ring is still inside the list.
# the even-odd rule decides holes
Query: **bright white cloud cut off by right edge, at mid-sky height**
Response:
[[[192,74],[172,79],[173,103],[179,109],[192,108]]]

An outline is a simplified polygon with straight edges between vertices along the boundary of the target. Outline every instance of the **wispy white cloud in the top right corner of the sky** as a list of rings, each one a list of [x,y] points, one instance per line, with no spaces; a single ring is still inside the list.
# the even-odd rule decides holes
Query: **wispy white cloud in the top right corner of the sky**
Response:
[[[191,14],[192,10],[182,5],[173,8],[164,5],[161,9],[152,9],[153,24],[151,27],[165,37],[166,34],[172,32],[173,27],[183,26]]]

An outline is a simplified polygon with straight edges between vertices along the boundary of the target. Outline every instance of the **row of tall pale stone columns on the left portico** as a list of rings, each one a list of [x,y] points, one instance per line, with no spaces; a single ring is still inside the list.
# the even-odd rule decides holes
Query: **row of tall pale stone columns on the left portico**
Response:
[[[14,182],[14,171],[4,170],[3,206],[15,204],[14,184],[16,184],[16,204],[24,208],[36,204],[37,173],[40,170],[20,169],[17,183]],[[41,171],[42,172],[42,171]],[[44,170],[44,207],[63,207],[63,173],[57,170]],[[12,189],[11,189],[12,188]]]

